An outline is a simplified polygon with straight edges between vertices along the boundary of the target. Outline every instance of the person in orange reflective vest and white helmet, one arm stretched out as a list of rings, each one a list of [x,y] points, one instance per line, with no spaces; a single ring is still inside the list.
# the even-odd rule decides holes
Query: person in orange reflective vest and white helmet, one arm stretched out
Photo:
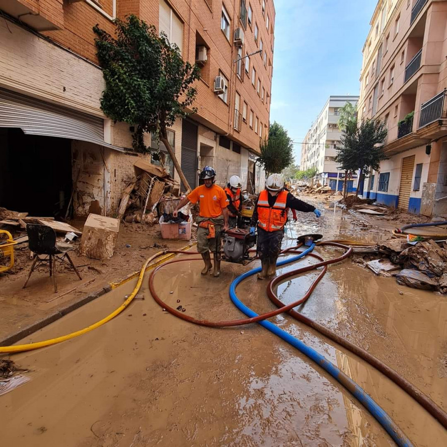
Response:
[[[314,206],[302,202],[284,190],[284,179],[280,174],[272,174],[265,182],[265,189],[258,196],[251,220],[252,234],[255,232],[255,225],[258,226],[257,249],[262,265],[258,279],[276,275],[276,261],[281,252],[288,209],[303,213],[313,212],[316,217],[321,216]]]

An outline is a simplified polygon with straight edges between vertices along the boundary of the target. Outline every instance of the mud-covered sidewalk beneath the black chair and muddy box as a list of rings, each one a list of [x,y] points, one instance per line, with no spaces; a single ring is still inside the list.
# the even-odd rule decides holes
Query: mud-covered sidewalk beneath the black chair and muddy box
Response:
[[[57,293],[54,293],[48,267],[36,269],[26,289],[22,289],[31,259],[28,248],[16,250],[14,267],[0,274],[0,345],[15,343],[99,297],[109,291],[114,282],[140,271],[147,258],[164,248],[179,249],[188,243],[161,239],[158,225],[122,223],[113,258],[98,261],[78,256],[74,251],[71,256],[74,265],[79,266],[82,280],[79,281],[73,270],[61,267],[57,275]],[[126,244],[131,247],[127,248]]]

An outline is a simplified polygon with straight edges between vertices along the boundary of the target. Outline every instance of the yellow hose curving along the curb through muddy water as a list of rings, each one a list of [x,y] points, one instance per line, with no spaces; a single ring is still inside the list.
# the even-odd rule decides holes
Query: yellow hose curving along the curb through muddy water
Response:
[[[161,256],[162,254],[165,254],[165,251],[159,251],[158,253],[151,256],[141,268],[140,276],[138,277],[137,285],[135,286],[135,289],[132,291],[132,293],[129,295],[129,297],[126,299],[126,301],[123,302],[117,309],[115,309],[111,314],[107,315],[102,320],[97,321],[96,323],[93,323],[92,325],[85,327],[84,329],[80,329],[76,332],[72,332],[71,334],[62,335],[61,337],[57,338],[51,338],[49,340],[44,340],[41,342],[36,343],[27,343],[26,345],[14,345],[14,346],[0,346],[0,354],[10,354],[14,352],[23,352],[23,351],[32,351],[33,349],[39,349],[44,348],[46,346],[55,345],[57,343],[61,343],[66,340],[70,340],[74,337],[77,337],[82,334],[86,334],[87,332],[92,331],[93,329],[96,329],[99,326],[102,326],[103,324],[110,321],[112,318],[115,318],[117,315],[119,315],[135,298],[138,291],[141,288],[141,285],[143,283],[143,278],[145,276],[146,268],[153,259],[155,259],[158,256]]]

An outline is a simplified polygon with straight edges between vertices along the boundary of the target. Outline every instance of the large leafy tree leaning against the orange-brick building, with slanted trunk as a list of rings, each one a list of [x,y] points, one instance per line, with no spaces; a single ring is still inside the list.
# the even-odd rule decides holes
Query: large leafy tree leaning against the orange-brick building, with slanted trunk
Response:
[[[93,27],[97,55],[105,80],[101,109],[114,121],[135,126],[132,146],[148,152],[144,135],[153,132],[164,144],[186,189],[190,189],[175,157],[166,128],[196,109],[192,83],[199,68],[184,62],[177,45],[171,45],[152,25],[130,15],[116,19],[116,38]],[[188,111],[189,108],[189,111]]]

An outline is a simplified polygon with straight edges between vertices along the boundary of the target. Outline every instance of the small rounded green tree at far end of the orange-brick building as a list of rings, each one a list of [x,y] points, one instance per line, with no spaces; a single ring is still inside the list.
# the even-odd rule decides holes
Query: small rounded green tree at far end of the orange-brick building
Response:
[[[293,141],[287,130],[276,121],[270,126],[269,138],[261,142],[258,163],[267,174],[282,172],[294,162]]]

